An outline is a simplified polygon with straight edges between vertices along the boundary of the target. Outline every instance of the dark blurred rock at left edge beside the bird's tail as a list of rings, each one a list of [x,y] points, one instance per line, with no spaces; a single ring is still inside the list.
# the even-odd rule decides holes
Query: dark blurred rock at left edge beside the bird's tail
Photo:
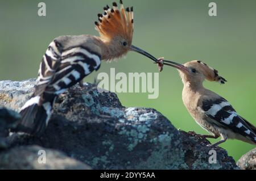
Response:
[[[0,106],[0,149],[9,147],[5,137],[9,136],[9,129],[17,126],[19,119],[18,113]]]

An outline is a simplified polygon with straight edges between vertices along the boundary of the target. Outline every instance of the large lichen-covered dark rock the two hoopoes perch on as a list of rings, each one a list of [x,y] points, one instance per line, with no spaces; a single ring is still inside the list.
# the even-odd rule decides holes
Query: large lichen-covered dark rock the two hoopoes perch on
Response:
[[[0,82],[0,105],[19,111],[34,83]],[[216,163],[209,163],[209,142],[178,131],[158,111],[125,108],[117,95],[99,93],[87,83],[59,96],[42,137],[15,133],[7,140],[13,147],[63,151],[92,169],[238,169],[221,148],[216,148]]]

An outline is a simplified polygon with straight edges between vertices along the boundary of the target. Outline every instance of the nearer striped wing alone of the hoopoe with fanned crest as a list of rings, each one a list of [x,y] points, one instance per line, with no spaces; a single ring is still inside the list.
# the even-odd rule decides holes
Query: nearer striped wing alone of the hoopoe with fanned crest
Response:
[[[61,53],[59,67],[46,88],[48,93],[59,95],[69,87],[82,81],[101,65],[100,54],[94,53],[84,47],[74,47]]]

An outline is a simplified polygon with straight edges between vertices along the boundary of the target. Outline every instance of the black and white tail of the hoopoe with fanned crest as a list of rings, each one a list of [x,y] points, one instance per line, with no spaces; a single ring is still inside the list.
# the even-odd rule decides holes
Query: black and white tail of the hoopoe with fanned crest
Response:
[[[55,98],[42,102],[41,96],[34,96],[24,104],[20,111],[21,119],[16,132],[25,132],[40,136],[51,117],[52,106]]]

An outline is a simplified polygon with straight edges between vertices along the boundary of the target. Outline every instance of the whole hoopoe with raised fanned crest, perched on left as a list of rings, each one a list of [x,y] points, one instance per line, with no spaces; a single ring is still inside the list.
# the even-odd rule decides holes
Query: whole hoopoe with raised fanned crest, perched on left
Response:
[[[101,60],[112,61],[134,51],[157,61],[151,54],[131,45],[134,32],[133,7],[125,10],[104,7],[95,22],[100,36],[60,36],[49,44],[40,64],[38,83],[34,95],[24,104],[18,131],[30,134],[43,133],[51,117],[57,95],[80,83],[94,70],[100,69]]]

